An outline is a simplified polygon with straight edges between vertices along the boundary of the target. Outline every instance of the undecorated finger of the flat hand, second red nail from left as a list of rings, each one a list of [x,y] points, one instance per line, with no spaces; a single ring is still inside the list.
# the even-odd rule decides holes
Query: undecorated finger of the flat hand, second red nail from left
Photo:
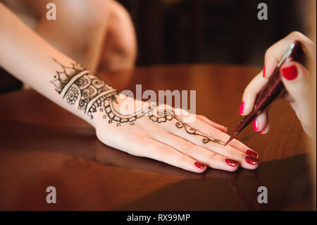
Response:
[[[216,154],[215,152],[211,152],[204,147],[194,145],[192,142],[188,142],[187,140],[173,135],[172,133],[160,133],[158,135],[154,135],[153,138],[154,140],[163,142],[170,147],[174,147],[182,154],[186,154],[192,159],[196,159],[198,162],[201,162],[201,164],[213,169],[236,171],[239,168],[238,162],[223,157],[220,154]]]

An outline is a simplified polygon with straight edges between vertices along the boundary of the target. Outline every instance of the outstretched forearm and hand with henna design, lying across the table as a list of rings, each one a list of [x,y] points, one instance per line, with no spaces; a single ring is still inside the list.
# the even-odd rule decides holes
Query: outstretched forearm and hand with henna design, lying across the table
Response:
[[[1,3],[0,27],[0,66],[90,123],[104,144],[196,173],[206,166],[225,171],[258,166],[256,152],[242,142],[223,145],[229,138],[225,127],[204,116],[189,123],[186,118],[194,115],[187,111],[120,94],[27,28]]]

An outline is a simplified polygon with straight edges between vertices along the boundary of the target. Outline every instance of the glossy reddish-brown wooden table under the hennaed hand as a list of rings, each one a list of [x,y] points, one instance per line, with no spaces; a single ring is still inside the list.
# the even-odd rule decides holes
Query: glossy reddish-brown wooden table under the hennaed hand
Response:
[[[244,87],[259,68],[151,66],[102,74],[118,90],[196,90],[197,114],[233,130]],[[311,209],[306,135],[290,106],[275,102],[271,131],[238,139],[259,152],[256,171],[194,174],[134,157],[97,140],[94,128],[34,90],[0,96],[0,209]],[[287,158],[291,157],[291,158]],[[275,160],[280,159],[280,160]],[[269,203],[257,202],[266,185]],[[46,203],[54,186],[57,203]],[[294,196],[292,200],[287,196]]]

